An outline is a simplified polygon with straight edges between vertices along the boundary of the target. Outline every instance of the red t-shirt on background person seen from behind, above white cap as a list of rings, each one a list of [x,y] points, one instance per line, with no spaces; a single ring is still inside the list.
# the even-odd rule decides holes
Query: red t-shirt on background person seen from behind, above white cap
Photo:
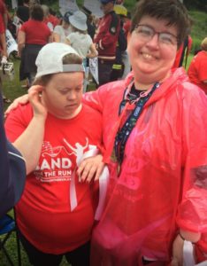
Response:
[[[27,44],[46,44],[50,37],[50,29],[44,22],[38,20],[28,20],[20,27],[26,34]]]

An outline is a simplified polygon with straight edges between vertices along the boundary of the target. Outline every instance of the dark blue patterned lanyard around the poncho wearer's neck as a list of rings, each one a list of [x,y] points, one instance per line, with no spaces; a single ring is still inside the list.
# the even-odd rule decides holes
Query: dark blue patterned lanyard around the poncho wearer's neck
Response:
[[[159,87],[159,82],[156,82],[151,90],[142,91],[139,98],[136,98],[134,97],[134,95],[128,93],[128,95],[126,95],[126,98],[124,98],[119,105],[119,115],[120,115],[120,113],[123,111],[123,108],[126,106],[126,102],[129,102],[129,104],[135,104],[133,112],[128,116],[126,122],[124,123],[122,128],[118,130],[117,135],[115,137],[114,152],[119,162],[119,166],[121,165],[124,159],[126,141],[130,136],[132,130],[134,129],[136,121],[140,117],[144,105],[149,100],[152,93],[158,87]]]

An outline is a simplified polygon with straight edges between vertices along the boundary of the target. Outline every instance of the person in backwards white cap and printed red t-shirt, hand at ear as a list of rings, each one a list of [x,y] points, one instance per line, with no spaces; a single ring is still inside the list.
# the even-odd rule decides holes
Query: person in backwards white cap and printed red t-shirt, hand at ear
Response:
[[[102,144],[101,114],[81,104],[84,68],[72,47],[46,44],[36,66],[30,103],[5,122],[27,160],[26,188],[16,207],[20,239],[33,265],[59,265],[65,254],[72,265],[88,266],[96,207],[92,177],[103,168],[102,156],[77,168]]]

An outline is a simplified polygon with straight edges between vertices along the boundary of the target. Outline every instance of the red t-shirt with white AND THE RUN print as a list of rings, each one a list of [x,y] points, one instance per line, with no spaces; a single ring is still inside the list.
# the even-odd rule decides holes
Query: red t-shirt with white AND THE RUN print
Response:
[[[14,141],[33,117],[32,107],[19,106],[5,122],[7,137]],[[27,176],[24,193],[16,207],[20,231],[39,250],[63,254],[86,243],[94,223],[91,185],[75,176],[77,207],[71,211],[70,184],[76,162],[88,145],[102,141],[101,114],[83,106],[69,120],[50,113],[45,124],[42,155],[36,170]],[[65,145],[64,138],[68,145]],[[27,144],[26,144],[27,145]]]

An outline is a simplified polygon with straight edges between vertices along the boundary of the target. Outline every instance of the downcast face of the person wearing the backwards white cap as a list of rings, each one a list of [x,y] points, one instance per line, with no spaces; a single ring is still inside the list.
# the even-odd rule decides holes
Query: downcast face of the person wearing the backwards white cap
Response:
[[[53,74],[42,91],[42,99],[49,113],[69,119],[80,112],[82,89],[82,72]]]

